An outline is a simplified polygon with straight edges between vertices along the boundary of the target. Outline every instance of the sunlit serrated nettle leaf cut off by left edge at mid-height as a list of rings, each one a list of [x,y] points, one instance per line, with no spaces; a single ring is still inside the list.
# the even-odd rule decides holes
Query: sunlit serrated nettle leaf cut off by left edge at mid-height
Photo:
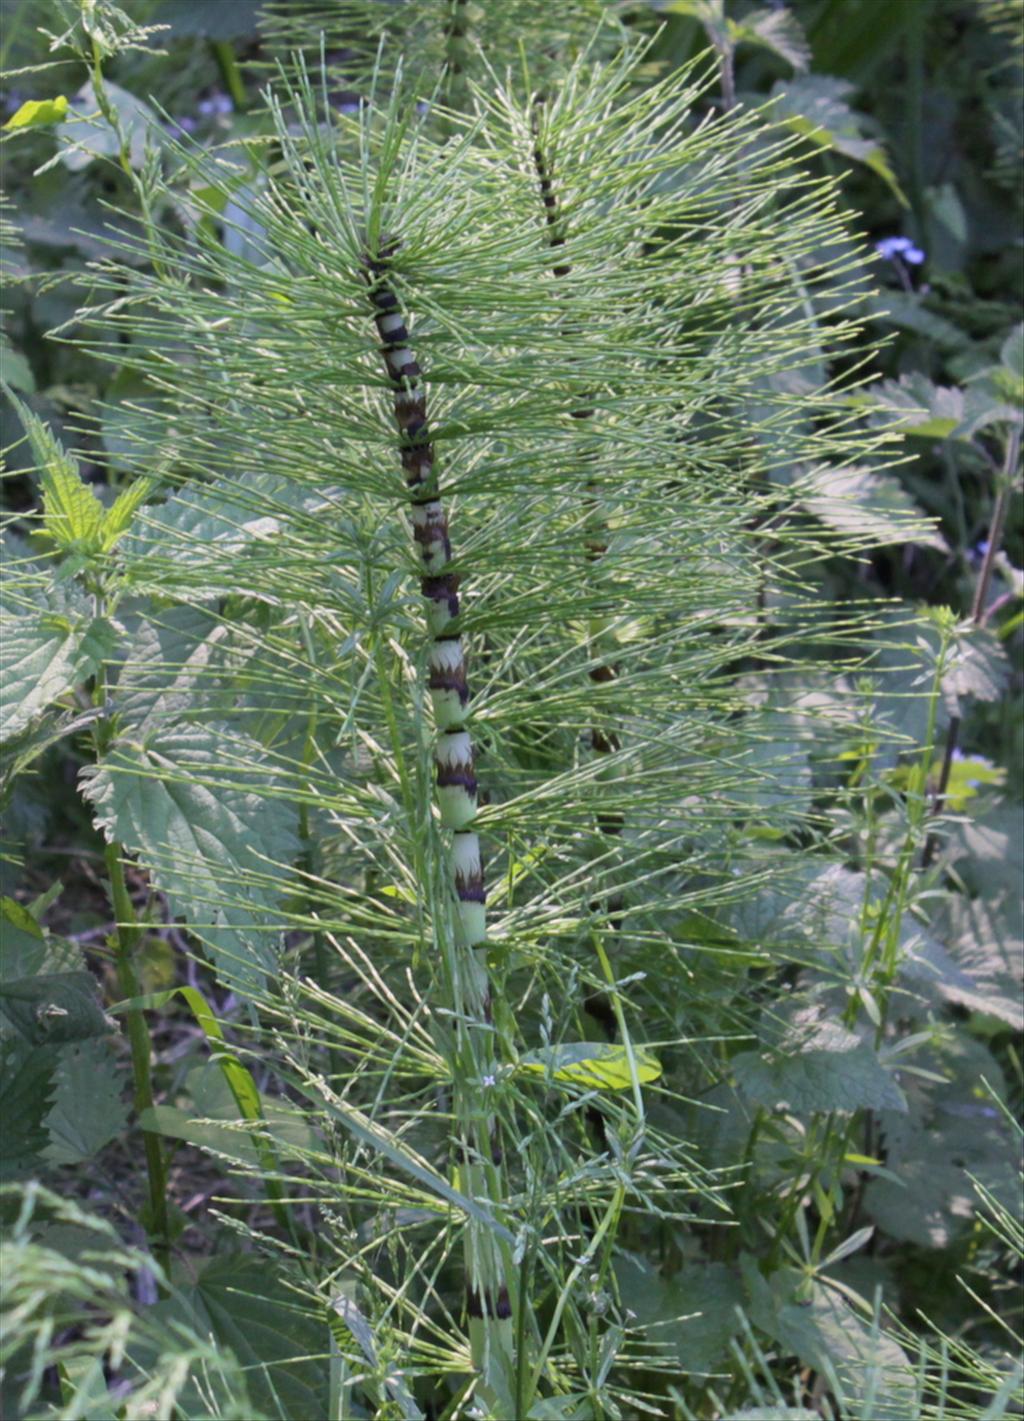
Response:
[[[116,632],[74,601],[54,598],[4,618],[0,637],[0,733],[20,735],[55,701],[94,676],[116,648]]]

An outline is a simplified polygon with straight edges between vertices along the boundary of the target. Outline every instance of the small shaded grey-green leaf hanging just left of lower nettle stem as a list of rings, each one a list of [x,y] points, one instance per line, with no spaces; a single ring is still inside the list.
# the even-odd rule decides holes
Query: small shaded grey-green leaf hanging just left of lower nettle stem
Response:
[[[128,1124],[125,1076],[109,1042],[65,1046],[57,1066],[57,1094],[47,1115],[51,1164],[81,1164],[115,1140]]]

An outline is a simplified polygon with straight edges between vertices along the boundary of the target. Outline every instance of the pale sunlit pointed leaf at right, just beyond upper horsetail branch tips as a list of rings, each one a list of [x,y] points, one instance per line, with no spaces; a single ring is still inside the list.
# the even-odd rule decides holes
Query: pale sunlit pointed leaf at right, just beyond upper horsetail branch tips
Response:
[[[872,469],[811,469],[797,485],[808,513],[837,533],[854,534],[868,546],[919,543],[946,549],[902,483]]]

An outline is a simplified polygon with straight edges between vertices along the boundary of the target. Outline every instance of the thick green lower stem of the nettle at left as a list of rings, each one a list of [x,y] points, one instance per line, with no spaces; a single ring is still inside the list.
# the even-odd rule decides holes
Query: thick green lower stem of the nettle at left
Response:
[[[122,996],[134,999],[142,995],[135,971],[135,951],[139,944],[139,925],[135,908],[125,882],[125,868],[121,844],[108,844],[104,851],[107,872],[116,918],[116,972]],[[132,1079],[135,1083],[135,1113],[153,1106],[153,1081],[149,1066],[151,1042],[146,1017],[141,1007],[125,1013],[128,1043],[132,1052]],[[149,1182],[149,1223],[153,1239],[153,1253],[158,1263],[170,1277],[170,1228],[168,1221],[168,1171],[163,1160],[163,1142],[151,1130],[142,1131],[142,1147],[146,1157],[146,1178]]]

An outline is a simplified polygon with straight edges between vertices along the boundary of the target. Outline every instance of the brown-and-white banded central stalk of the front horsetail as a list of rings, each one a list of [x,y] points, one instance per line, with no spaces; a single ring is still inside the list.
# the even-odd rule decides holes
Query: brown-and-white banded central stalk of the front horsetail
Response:
[[[452,568],[447,514],[440,499],[422,371],[392,286],[396,244],[366,253],[364,270],[374,321],[391,379],[399,453],[410,495],[412,531],[422,564],[420,591],[430,634],[427,689],[436,728],[435,770],[440,823],[450,831],[449,871],[454,894],[454,941],[442,942],[450,961],[454,1052],[452,1097],[457,1130],[459,1184],[497,1216],[506,1191],[497,1118],[487,1091],[497,1081],[496,1033],[486,963],[487,919],[480,840],[473,828],[477,780],[467,729],[470,693],[459,624],[459,574]],[[445,936],[443,924],[439,935]],[[476,1395],[489,1417],[514,1421],[516,1339],[508,1259],[496,1233],[466,1221],[466,1312],[477,1374]],[[520,1367],[524,1358],[518,1358]]]

